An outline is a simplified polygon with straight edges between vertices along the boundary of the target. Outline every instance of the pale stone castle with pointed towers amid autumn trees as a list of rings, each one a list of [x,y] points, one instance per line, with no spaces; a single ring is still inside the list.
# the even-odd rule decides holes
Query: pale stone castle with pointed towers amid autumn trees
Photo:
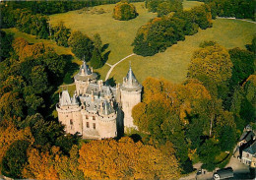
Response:
[[[83,139],[100,140],[116,137],[118,124],[125,129],[136,129],[132,108],[141,102],[142,86],[131,66],[121,86],[118,84],[112,88],[96,79],[96,73],[84,61],[74,77],[76,90],[73,96],[68,90],[59,94],[56,110],[66,133],[79,133]]]

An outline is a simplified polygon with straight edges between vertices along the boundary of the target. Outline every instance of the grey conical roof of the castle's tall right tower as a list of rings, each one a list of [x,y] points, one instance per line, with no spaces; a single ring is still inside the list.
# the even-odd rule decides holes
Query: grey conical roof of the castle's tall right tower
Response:
[[[141,90],[142,86],[136,79],[132,67],[130,65],[129,71],[126,77],[123,79],[123,84],[121,86],[121,90]]]

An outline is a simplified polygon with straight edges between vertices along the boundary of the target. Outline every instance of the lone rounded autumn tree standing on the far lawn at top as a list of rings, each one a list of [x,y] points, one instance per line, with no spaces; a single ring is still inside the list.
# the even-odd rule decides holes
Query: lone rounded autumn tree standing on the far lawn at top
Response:
[[[115,20],[127,21],[136,18],[137,15],[135,6],[127,1],[117,3],[113,9],[113,18]]]

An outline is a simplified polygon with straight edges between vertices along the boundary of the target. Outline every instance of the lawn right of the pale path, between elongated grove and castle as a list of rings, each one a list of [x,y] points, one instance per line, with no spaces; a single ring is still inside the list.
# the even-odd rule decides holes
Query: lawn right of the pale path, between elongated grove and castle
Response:
[[[215,40],[226,48],[244,48],[245,44],[251,43],[255,28],[254,24],[246,22],[215,20],[213,28],[199,30],[192,36],[186,36],[184,41],[179,41],[163,53],[158,53],[152,57],[133,56],[129,60],[132,61],[134,73],[140,82],[151,76],[180,83],[186,79],[191,56],[200,42]],[[113,77],[117,82],[121,82],[128,66],[128,61],[118,64],[112,71],[110,78]]]

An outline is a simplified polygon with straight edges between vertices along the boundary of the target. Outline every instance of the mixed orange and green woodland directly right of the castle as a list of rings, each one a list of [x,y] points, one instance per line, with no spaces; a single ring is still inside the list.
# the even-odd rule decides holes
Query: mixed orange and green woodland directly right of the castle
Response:
[[[192,171],[195,154],[203,168],[224,167],[227,161],[220,164],[216,156],[232,152],[243,128],[255,123],[254,63],[248,50],[202,43],[183,84],[143,82],[143,101],[133,108],[135,124],[159,145],[171,142],[183,172]]]

